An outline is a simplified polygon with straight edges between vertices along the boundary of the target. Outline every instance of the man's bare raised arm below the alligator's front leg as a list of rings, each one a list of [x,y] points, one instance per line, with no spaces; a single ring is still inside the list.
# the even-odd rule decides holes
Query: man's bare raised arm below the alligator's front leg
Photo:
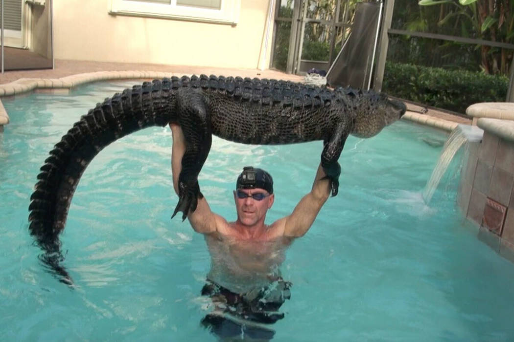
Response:
[[[321,207],[330,195],[329,180],[323,179],[325,176],[326,174],[320,164],[314,179],[313,188],[308,194],[303,196],[291,215],[284,218],[284,236],[303,236],[310,226],[313,225]]]

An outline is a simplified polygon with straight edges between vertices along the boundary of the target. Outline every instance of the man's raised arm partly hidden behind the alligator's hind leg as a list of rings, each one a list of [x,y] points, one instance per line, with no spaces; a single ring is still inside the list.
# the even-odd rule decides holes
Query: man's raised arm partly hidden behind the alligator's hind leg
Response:
[[[178,176],[182,170],[182,156],[186,152],[186,139],[182,129],[177,124],[170,124],[173,135],[173,148],[171,153],[171,170],[173,173],[173,188],[179,194]],[[207,204],[205,197],[198,198],[198,206],[194,212],[188,213],[188,219],[193,229],[202,234],[209,234],[216,231],[216,220],[218,215],[214,214]]]

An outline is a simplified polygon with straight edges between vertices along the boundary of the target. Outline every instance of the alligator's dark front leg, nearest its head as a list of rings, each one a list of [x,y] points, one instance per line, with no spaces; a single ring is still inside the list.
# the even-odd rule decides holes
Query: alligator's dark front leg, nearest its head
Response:
[[[326,177],[330,180],[330,188],[332,196],[337,195],[339,191],[339,175],[341,174],[341,166],[337,162],[344,142],[350,134],[350,130],[346,125],[341,125],[335,129],[330,139],[323,142],[323,152],[321,153],[321,166],[326,173]]]

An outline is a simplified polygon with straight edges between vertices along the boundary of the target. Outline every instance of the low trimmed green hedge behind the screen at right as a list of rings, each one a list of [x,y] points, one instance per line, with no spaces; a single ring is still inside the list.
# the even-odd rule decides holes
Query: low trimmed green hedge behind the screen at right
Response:
[[[420,104],[466,113],[478,102],[504,102],[506,76],[386,63],[383,91]]]

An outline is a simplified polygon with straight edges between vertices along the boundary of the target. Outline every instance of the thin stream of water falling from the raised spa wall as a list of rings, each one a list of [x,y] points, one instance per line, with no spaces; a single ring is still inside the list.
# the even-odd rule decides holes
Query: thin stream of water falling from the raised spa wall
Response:
[[[432,199],[441,178],[448,169],[451,160],[455,156],[455,153],[457,153],[457,151],[467,142],[480,142],[483,134],[484,131],[480,128],[469,125],[458,125],[450,133],[448,140],[446,140],[446,143],[443,146],[443,151],[437,160],[437,164],[432,171],[432,175],[423,191],[423,199],[426,204],[430,203],[430,200]]]

